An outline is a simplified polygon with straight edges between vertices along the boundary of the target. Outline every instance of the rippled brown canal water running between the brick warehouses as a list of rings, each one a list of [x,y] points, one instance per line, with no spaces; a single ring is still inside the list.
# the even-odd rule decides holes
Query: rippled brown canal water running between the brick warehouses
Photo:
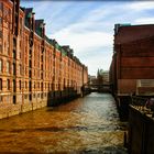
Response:
[[[125,130],[111,95],[94,92],[0,120],[0,152],[127,154]]]

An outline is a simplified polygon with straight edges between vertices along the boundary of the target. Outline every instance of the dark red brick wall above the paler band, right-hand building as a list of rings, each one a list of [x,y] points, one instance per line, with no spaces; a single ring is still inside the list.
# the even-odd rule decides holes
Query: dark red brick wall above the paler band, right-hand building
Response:
[[[112,82],[119,85],[118,91],[130,89],[135,92],[134,79],[154,79],[154,25],[121,26],[114,36],[114,56],[112,59]],[[114,67],[114,69],[113,69]],[[130,87],[125,81],[132,79]],[[118,81],[119,80],[119,81]],[[127,86],[128,85],[128,86]],[[120,88],[120,89],[119,89]],[[116,89],[114,89],[116,91]],[[127,92],[127,90],[124,90]]]

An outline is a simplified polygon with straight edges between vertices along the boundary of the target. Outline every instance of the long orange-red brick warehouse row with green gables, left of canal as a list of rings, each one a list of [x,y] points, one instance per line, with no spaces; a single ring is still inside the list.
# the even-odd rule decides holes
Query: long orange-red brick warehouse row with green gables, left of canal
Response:
[[[80,95],[88,69],[20,0],[0,0],[0,118]]]

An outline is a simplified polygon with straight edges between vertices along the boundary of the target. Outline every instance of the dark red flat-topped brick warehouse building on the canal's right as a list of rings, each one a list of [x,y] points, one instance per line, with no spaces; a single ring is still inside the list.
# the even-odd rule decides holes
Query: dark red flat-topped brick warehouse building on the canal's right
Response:
[[[154,24],[116,24],[110,81],[120,106],[132,94],[154,96],[153,44]]]

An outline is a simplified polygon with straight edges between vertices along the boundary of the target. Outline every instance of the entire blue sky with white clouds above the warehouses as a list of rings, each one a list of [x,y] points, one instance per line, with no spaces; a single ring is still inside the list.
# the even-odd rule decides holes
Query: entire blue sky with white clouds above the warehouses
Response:
[[[116,23],[154,24],[154,1],[25,1],[35,19],[44,19],[46,35],[69,45],[90,75],[108,70]]]

